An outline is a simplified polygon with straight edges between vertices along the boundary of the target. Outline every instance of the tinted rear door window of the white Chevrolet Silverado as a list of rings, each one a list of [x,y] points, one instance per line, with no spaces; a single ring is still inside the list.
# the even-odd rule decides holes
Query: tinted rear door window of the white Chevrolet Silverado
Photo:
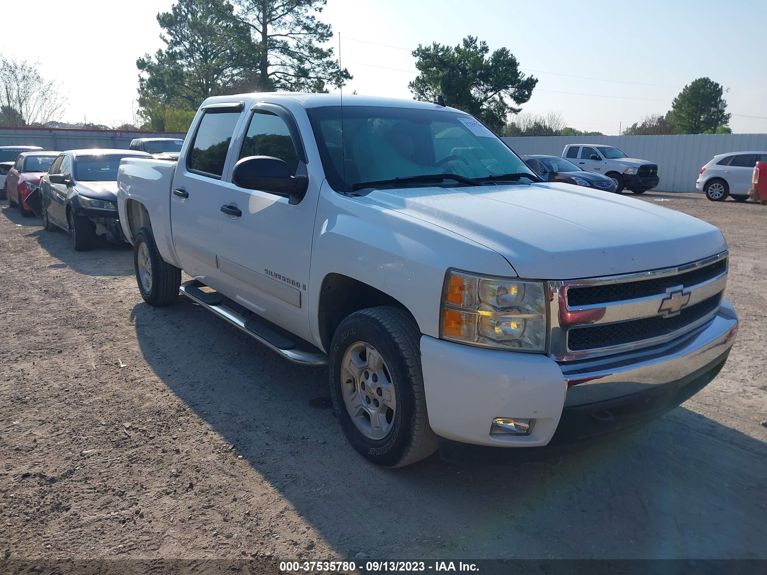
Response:
[[[190,172],[202,174],[216,179],[221,179],[224,173],[226,153],[229,152],[229,143],[237,126],[240,112],[215,108],[202,116],[197,126],[192,149],[186,161],[186,167]]]

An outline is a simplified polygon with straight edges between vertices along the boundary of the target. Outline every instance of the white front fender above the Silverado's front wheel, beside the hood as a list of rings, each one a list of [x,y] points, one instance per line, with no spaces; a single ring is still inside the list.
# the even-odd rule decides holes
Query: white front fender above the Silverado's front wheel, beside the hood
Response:
[[[334,192],[320,192],[311,254],[311,333],[321,342],[320,291],[331,273],[383,291],[413,314],[422,334],[439,337],[439,305],[449,268],[515,276],[496,251],[445,228]]]

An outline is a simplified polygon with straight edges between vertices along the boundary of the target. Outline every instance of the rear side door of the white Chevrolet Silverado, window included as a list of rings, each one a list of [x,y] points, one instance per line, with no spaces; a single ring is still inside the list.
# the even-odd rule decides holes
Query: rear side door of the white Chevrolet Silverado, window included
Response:
[[[224,104],[203,110],[186,159],[179,159],[170,195],[173,243],[179,261],[189,275],[216,289],[221,177],[242,114],[242,103]]]

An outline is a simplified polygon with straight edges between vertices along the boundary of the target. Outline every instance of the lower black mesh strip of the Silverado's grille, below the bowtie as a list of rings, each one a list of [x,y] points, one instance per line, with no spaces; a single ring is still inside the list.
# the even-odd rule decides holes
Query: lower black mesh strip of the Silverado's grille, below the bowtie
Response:
[[[575,327],[568,335],[569,347],[573,351],[593,350],[673,334],[681,327],[692,324],[716,310],[721,300],[722,293],[719,292],[706,300],[686,307],[680,311],[679,315],[673,317],[645,317],[620,324]]]

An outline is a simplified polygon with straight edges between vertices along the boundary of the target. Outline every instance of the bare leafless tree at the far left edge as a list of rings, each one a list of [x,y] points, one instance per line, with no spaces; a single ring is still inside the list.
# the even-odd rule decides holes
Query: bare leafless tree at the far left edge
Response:
[[[67,97],[61,84],[41,76],[39,67],[38,61],[0,56],[0,123],[31,126],[61,119]]]

